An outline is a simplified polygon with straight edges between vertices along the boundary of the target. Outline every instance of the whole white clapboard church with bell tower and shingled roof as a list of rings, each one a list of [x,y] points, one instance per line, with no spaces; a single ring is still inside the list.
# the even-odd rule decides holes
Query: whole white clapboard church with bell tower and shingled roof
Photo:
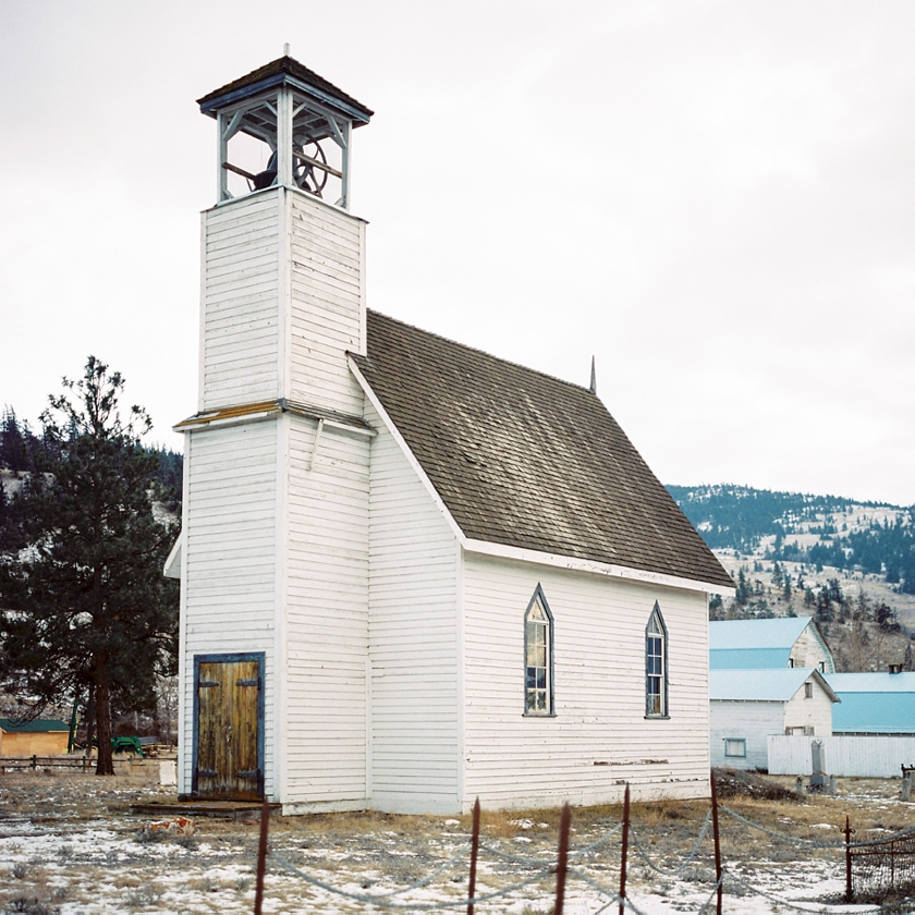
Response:
[[[707,796],[707,599],[732,582],[594,383],[367,310],[363,103],[285,56],[199,105],[218,196],[166,570],[180,795]]]

